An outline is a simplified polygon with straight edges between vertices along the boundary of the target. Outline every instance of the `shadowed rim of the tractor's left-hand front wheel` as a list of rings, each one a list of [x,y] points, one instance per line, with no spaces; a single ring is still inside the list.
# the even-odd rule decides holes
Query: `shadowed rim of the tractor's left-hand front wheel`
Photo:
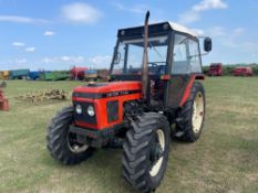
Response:
[[[68,132],[66,142],[70,151],[73,153],[82,153],[89,148],[87,144],[76,142],[76,135],[72,132]]]

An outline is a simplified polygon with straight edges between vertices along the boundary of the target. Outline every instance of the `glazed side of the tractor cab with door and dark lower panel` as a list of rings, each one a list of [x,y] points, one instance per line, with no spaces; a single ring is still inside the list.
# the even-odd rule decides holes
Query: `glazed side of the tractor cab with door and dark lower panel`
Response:
[[[194,74],[202,74],[202,61],[198,39],[175,34],[168,107],[178,108],[186,86]]]

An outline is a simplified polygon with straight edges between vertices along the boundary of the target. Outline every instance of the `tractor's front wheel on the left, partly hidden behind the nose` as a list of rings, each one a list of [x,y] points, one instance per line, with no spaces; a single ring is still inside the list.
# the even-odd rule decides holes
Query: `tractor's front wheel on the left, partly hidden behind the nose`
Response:
[[[63,164],[76,164],[93,153],[93,148],[76,142],[76,135],[69,132],[73,122],[73,107],[63,108],[51,121],[47,135],[51,156]]]

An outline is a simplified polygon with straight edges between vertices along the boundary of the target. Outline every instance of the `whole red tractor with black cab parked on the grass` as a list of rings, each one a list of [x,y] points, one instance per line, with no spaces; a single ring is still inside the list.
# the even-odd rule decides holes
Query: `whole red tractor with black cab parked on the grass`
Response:
[[[197,34],[171,22],[148,25],[148,15],[144,26],[118,30],[109,83],[75,87],[72,106],[52,119],[47,137],[51,156],[64,164],[96,148],[123,148],[123,176],[142,192],[161,184],[171,136],[194,142],[205,119]]]

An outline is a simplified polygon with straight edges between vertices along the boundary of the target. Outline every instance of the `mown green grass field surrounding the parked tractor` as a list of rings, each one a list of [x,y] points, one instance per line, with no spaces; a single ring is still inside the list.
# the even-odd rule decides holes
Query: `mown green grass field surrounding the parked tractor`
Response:
[[[122,150],[99,150],[75,167],[53,160],[47,126],[71,101],[32,105],[14,97],[76,82],[8,82],[11,110],[0,111],[0,192],[133,193],[121,175]],[[258,77],[205,81],[207,116],[196,143],[172,142],[169,163],[157,193],[258,192]]]

